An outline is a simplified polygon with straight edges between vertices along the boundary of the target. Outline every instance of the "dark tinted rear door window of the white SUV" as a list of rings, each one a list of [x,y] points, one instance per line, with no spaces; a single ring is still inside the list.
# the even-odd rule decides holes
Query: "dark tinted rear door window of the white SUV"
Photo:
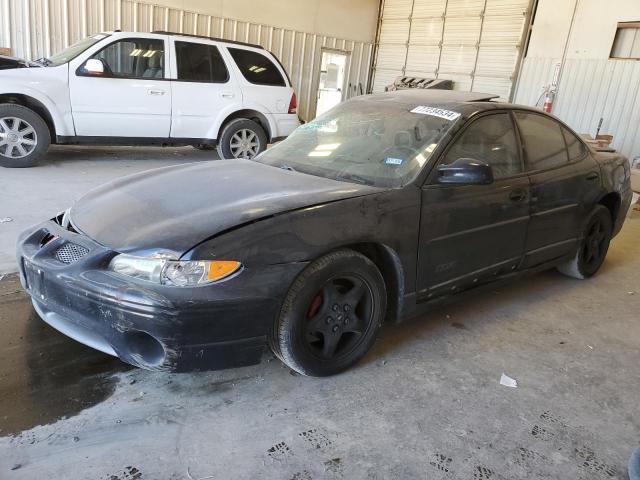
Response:
[[[215,45],[175,42],[178,80],[202,83],[226,83],[229,71]]]

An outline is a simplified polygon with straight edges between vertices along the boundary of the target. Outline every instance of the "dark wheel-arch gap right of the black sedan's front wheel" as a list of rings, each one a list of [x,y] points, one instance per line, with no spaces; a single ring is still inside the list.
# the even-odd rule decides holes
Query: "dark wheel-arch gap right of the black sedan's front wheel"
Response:
[[[398,254],[387,245],[367,242],[346,245],[371,260],[380,270],[387,288],[387,312],[385,322],[401,320],[404,308],[404,268]]]

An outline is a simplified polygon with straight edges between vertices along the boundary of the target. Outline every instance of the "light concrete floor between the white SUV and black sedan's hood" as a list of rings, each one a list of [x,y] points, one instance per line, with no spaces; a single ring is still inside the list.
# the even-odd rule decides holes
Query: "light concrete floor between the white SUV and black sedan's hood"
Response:
[[[98,185],[151,168],[217,159],[192,147],[51,147],[34,168],[0,168],[0,275],[17,270],[15,242]]]

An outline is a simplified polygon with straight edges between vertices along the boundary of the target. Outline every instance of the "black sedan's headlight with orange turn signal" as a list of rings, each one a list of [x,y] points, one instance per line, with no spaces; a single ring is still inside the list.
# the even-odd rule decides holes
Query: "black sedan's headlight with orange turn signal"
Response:
[[[238,272],[235,260],[168,260],[120,254],[113,257],[109,270],[147,282],[176,287],[196,287],[217,282]]]

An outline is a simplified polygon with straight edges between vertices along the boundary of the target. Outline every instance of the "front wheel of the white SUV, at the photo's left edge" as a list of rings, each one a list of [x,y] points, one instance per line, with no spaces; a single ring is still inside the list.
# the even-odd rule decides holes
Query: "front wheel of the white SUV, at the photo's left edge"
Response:
[[[0,166],[33,167],[50,143],[49,128],[40,115],[22,105],[0,105]]]

